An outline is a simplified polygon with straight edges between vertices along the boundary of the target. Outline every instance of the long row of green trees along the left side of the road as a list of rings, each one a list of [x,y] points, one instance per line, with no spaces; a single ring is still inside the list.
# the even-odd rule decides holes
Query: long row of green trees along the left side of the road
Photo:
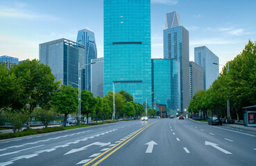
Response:
[[[65,115],[65,124],[69,113],[78,111],[78,89],[55,82],[51,68],[34,59],[26,60],[13,68],[5,64],[0,66],[0,111],[1,116],[11,122],[14,131],[21,129],[31,116],[39,118],[47,127],[57,114]],[[117,118],[141,116],[145,114],[142,104],[133,102],[133,96],[126,91],[114,93]],[[113,92],[103,98],[94,98],[90,91],[81,91],[82,115],[98,118],[111,118],[113,110]],[[149,109],[148,115],[155,111]],[[88,122],[88,121],[87,121]]]

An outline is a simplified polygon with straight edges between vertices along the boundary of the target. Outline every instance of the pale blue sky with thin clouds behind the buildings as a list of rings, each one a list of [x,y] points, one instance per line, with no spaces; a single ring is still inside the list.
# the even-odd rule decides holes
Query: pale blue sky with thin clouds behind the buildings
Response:
[[[255,0],[151,0],[151,57],[163,58],[165,15],[176,11],[189,30],[189,60],[194,47],[207,46],[225,64],[256,41],[255,6]],[[39,44],[76,42],[84,28],[94,32],[103,57],[103,0],[0,0],[0,56],[39,59]]]

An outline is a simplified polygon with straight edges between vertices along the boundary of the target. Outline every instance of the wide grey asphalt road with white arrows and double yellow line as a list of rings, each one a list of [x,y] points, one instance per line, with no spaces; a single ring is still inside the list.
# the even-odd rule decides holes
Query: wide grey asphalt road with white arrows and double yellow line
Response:
[[[117,122],[1,140],[0,165],[256,165],[256,131],[176,118]]]

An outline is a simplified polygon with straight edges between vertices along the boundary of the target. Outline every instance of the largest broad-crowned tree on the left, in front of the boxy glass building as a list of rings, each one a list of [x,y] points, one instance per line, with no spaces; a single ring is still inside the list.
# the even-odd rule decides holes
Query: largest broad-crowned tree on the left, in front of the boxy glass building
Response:
[[[19,65],[10,68],[10,75],[15,75],[19,80],[19,86],[22,87],[22,94],[19,100],[12,103],[14,109],[26,109],[28,117],[31,116],[35,107],[47,108],[51,101],[53,92],[58,89],[59,82],[54,82],[55,77],[51,73],[51,68],[40,61],[33,59],[26,60]],[[29,118],[27,120],[29,128]]]

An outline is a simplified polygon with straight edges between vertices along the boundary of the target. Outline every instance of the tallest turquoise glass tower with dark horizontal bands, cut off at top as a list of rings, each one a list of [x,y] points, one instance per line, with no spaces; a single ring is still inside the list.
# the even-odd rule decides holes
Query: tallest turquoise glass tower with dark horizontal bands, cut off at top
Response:
[[[151,106],[151,1],[104,1],[104,94],[127,91]]]

